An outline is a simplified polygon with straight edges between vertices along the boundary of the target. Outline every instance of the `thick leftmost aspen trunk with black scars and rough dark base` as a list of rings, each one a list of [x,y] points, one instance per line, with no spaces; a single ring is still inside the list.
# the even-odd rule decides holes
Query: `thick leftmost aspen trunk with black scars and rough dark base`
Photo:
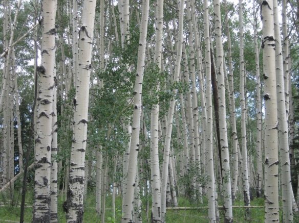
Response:
[[[42,1],[42,42],[35,138],[35,186],[32,222],[50,221],[53,95],[55,88],[55,16],[57,1]]]

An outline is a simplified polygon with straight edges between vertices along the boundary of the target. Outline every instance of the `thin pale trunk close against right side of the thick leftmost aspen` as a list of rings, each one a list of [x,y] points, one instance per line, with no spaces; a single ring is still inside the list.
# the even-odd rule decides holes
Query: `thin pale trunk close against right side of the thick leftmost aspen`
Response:
[[[51,222],[58,222],[58,212],[57,212],[57,78],[56,72],[54,73],[54,92],[53,92],[53,112],[52,112],[52,148],[51,148]]]

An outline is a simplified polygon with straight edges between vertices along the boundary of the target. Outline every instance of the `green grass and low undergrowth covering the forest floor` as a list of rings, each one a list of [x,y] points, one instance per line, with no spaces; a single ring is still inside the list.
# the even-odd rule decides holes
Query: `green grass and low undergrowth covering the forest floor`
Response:
[[[20,195],[19,192],[15,192],[15,201],[14,206],[11,206],[9,195],[0,194],[0,223],[1,222],[18,222],[20,217]],[[29,191],[26,199],[25,211],[25,222],[32,221],[32,200],[33,192]],[[58,219],[59,222],[66,222],[65,212],[62,210],[62,204],[65,201],[65,195],[58,197]],[[146,204],[149,204],[151,208],[151,197],[142,198],[142,219],[143,222],[151,220],[151,210],[148,211],[148,217],[146,217]],[[207,206],[207,200],[204,199],[203,204],[190,202],[184,197],[179,197],[178,199],[179,207],[203,207],[202,209],[196,210],[167,210],[166,211],[166,222],[208,222],[208,210],[205,208]],[[251,206],[264,206],[263,199],[254,199],[251,201]],[[221,206],[221,201],[219,201],[219,206]],[[237,197],[236,201],[233,204],[234,206],[243,206],[242,196]],[[112,214],[112,197],[106,197],[106,213],[105,213],[105,222],[120,222],[121,221],[121,196],[115,198],[115,219]],[[224,211],[220,211],[220,222],[224,222]],[[282,217],[282,211],[280,211],[280,218]],[[281,219],[282,220],[282,219]],[[233,209],[233,221],[234,222],[263,222],[264,221],[264,209],[263,208],[252,208],[250,209],[250,218],[246,219],[246,210],[244,208],[234,208]],[[95,192],[89,191],[87,199],[84,203],[84,222],[101,222],[100,216],[97,215],[95,210]],[[299,222],[299,215],[294,215],[294,222]]]

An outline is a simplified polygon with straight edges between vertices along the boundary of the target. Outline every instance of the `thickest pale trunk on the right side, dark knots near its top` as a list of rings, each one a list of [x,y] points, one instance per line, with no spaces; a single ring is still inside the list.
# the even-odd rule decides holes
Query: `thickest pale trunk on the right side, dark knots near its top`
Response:
[[[273,2],[261,5],[265,100],[265,222],[279,221],[277,100]]]

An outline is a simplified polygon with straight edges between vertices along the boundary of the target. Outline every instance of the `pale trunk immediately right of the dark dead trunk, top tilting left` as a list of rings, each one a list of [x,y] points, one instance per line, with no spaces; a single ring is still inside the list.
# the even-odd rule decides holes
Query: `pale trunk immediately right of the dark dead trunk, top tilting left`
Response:
[[[223,197],[225,209],[225,222],[232,222],[232,204],[231,204],[231,185],[230,185],[230,168],[229,153],[226,127],[226,103],[225,103],[225,81],[223,71],[223,45],[221,39],[221,14],[219,0],[213,1],[215,9],[215,37],[216,37],[216,67],[217,67],[217,88],[219,92],[219,124],[220,124],[220,144],[223,174]]]

